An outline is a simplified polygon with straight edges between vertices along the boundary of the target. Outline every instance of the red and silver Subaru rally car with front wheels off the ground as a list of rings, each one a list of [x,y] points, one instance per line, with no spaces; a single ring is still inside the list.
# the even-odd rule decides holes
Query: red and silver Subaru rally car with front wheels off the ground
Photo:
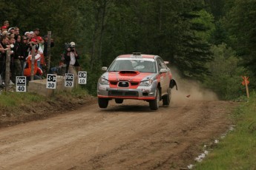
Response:
[[[108,107],[108,101],[114,99],[122,103],[124,99],[148,101],[151,110],[157,110],[160,101],[168,106],[171,101],[171,89],[176,86],[171,70],[158,55],[145,55],[134,52],[119,55],[97,84],[97,97],[100,108]]]

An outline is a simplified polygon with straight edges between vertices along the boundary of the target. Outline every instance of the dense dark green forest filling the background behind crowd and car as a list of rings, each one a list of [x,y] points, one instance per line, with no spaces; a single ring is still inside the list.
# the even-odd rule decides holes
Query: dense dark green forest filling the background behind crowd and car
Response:
[[[246,94],[242,76],[256,87],[255,0],[1,0],[0,9],[21,34],[51,31],[52,66],[75,41],[93,95],[101,67],[131,52],[160,55],[223,100]]]

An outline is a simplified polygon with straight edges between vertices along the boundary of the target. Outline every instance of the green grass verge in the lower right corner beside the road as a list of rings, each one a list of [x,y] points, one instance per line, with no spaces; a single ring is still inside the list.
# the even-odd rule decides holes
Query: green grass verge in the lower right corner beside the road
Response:
[[[235,128],[193,169],[256,169],[256,93],[233,114]]]

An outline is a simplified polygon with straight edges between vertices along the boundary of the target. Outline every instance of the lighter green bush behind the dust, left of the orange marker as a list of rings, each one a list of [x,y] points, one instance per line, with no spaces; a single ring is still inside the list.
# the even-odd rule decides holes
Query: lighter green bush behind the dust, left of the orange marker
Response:
[[[217,92],[221,99],[235,99],[246,95],[242,86],[245,69],[239,67],[240,60],[234,50],[226,44],[211,47],[214,61],[207,64],[211,76],[206,77],[205,86]]]

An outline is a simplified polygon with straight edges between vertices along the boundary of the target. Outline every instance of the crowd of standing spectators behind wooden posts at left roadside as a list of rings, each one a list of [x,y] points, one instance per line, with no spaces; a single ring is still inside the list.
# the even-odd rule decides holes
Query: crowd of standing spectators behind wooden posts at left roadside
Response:
[[[15,84],[16,76],[26,76],[30,80],[31,56],[35,47],[34,79],[41,79],[45,72],[45,58],[47,57],[47,35],[41,36],[39,28],[33,31],[19,30],[19,27],[10,27],[9,21],[0,26],[0,85],[4,85],[7,51],[10,50],[10,84]],[[50,47],[53,47],[53,39]]]

